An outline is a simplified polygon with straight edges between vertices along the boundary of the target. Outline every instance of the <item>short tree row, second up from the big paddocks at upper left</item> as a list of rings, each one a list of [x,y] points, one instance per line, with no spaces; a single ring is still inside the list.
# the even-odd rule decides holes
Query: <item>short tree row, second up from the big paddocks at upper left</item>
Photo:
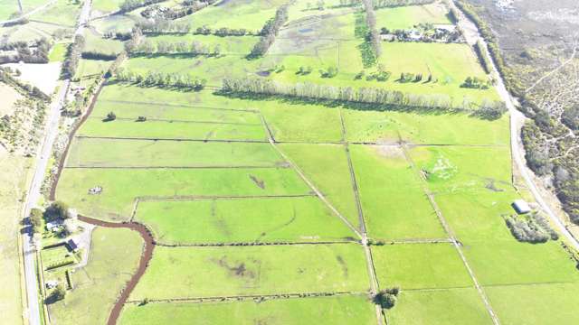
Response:
[[[131,54],[194,54],[219,56],[221,54],[221,44],[215,44],[212,48],[199,41],[187,42],[151,42],[145,40],[130,51]]]

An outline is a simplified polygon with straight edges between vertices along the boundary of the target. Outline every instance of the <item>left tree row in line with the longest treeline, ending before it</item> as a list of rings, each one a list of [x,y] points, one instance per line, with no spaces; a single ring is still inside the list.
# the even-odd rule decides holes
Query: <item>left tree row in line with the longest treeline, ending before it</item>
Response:
[[[207,80],[193,79],[187,74],[148,71],[147,74],[142,75],[121,68],[116,72],[116,80],[130,82],[142,87],[171,87],[195,91],[202,90],[207,84]]]

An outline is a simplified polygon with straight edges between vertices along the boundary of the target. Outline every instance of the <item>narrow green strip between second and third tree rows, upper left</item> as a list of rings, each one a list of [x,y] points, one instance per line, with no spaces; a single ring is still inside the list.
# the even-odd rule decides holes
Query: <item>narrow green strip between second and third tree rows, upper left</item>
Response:
[[[253,45],[258,42],[258,36],[215,36],[215,35],[195,35],[192,33],[176,33],[176,34],[147,34],[147,41],[153,42],[199,42],[202,45],[209,47],[211,51],[216,45],[221,48],[221,54],[225,55],[247,55],[252,51]]]

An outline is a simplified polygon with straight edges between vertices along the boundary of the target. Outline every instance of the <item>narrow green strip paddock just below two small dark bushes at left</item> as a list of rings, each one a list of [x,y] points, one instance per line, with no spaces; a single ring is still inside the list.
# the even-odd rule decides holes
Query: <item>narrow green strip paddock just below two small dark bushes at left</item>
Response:
[[[267,140],[262,125],[153,120],[146,122],[136,122],[135,120],[106,122],[100,118],[89,118],[82,125],[78,135],[180,140]]]

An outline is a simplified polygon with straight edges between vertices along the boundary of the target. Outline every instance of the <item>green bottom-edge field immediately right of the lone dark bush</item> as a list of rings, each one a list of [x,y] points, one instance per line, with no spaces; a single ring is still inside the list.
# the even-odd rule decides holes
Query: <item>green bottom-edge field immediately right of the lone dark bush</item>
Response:
[[[492,320],[476,289],[403,291],[385,311],[395,325],[490,325]]]

